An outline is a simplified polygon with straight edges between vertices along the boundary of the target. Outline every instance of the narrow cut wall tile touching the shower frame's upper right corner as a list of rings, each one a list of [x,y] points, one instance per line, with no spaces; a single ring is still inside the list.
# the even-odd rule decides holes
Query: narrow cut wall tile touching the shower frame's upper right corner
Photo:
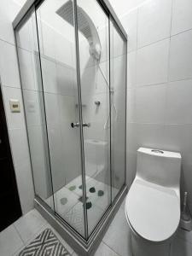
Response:
[[[120,21],[128,36],[128,52],[137,49],[137,9],[123,16]]]

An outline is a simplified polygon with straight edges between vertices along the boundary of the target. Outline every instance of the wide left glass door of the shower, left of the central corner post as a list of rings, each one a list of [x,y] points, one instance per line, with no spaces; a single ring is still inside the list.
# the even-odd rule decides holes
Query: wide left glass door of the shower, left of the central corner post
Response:
[[[46,0],[37,9],[44,106],[55,212],[84,236],[79,91],[73,2]]]

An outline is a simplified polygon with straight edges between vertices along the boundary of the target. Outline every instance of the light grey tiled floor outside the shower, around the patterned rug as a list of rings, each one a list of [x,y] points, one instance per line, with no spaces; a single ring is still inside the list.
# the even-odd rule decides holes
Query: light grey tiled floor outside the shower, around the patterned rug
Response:
[[[36,210],[28,212],[24,217],[17,220],[15,224],[10,225],[9,228],[0,233],[0,255],[17,255],[23,247],[48,227],[54,230]],[[55,230],[54,232],[63,245],[67,247],[69,253],[72,253],[73,256],[78,255]],[[172,247],[172,256],[191,255],[192,231],[178,230]],[[95,256],[132,256],[131,232],[125,220],[124,203],[109,226]]]

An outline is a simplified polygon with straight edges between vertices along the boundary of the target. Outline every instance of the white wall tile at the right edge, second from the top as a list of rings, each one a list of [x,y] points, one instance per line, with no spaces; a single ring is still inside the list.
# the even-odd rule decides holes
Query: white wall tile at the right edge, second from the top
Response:
[[[192,79],[192,30],[171,38],[169,80]]]

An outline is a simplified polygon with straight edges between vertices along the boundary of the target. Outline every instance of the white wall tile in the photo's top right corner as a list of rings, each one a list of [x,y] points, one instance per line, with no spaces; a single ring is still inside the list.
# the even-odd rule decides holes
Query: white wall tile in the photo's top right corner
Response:
[[[172,35],[192,28],[191,9],[191,0],[173,0]]]

